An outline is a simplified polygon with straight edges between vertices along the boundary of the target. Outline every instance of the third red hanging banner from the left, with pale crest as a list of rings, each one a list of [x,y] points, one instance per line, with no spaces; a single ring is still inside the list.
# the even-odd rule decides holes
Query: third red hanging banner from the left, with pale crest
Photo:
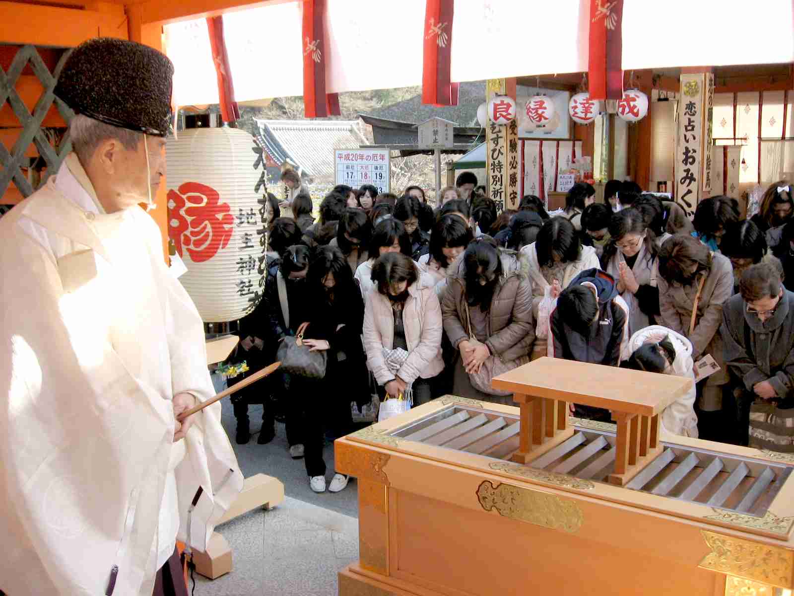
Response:
[[[453,83],[449,74],[452,64],[453,13],[453,0],[427,0],[422,60],[422,103],[430,103],[434,106],[457,106],[458,83]]]

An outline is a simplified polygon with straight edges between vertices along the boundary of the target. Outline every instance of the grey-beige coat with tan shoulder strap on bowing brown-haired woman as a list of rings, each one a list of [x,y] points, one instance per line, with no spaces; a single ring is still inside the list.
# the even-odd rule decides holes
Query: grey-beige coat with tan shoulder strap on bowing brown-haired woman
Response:
[[[700,277],[698,278],[700,280]],[[703,292],[698,302],[695,330],[689,333],[692,304],[697,294],[697,284],[681,285],[659,276],[659,310],[661,324],[684,335],[692,342],[692,359],[711,354],[720,370],[708,377],[708,385],[724,385],[728,381],[723,360],[723,339],[719,327],[723,323],[723,304],[734,291],[734,273],[727,257],[713,255]]]

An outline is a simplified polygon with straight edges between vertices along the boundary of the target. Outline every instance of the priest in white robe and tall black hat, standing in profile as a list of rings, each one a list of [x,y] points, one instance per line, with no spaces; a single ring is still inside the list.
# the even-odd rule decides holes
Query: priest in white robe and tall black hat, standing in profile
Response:
[[[139,207],[174,67],[106,37],[61,66],[73,153],[0,220],[0,586],[186,594],[176,540],[206,551],[243,476],[219,402],[179,420],[215,395],[204,326]]]

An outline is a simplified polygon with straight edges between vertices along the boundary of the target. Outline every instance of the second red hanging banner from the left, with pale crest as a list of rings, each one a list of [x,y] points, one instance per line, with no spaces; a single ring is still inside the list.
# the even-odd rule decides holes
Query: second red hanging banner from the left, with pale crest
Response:
[[[303,0],[303,106],[306,118],[338,116],[339,95],[326,94],[326,0]]]

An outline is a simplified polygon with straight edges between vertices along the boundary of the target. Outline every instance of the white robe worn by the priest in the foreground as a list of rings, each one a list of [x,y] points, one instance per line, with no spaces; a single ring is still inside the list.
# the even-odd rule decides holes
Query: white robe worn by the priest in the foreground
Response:
[[[214,389],[160,231],[140,207],[80,207],[91,183],[64,168],[81,197],[53,176],[0,220],[2,588],[105,594],[116,566],[114,594],[150,596],[158,555],[206,548],[243,478],[220,404],[172,443],[172,397]]]

